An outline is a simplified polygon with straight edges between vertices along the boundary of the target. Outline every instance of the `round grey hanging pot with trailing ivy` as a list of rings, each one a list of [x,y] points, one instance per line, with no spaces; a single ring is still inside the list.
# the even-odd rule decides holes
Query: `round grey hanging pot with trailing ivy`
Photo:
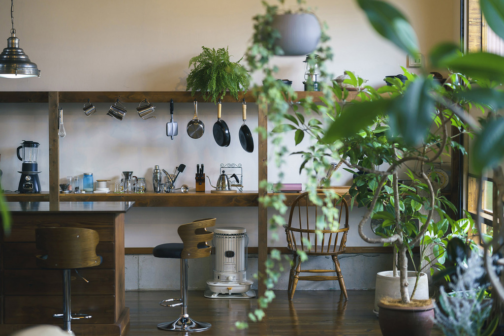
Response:
[[[322,34],[320,22],[310,13],[282,14],[273,19],[272,28],[280,32],[276,44],[285,56],[307,55],[317,49]]]

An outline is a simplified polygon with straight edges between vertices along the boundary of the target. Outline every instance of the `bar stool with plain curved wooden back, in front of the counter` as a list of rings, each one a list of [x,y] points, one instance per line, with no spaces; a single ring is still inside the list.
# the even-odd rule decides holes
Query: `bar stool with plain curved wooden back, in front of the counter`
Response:
[[[101,257],[96,255],[99,240],[98,232],[91,229],[35,229],[36,247],[43,251],[43,254],[36,256],[37,265],[42,268],[63,270],[63,313],[52,316],[63,318],[63,329],[69,334],[73,334],[71,320],[91,318],[91,315],[71,312],[70,270],[97,266],[101,263]]]

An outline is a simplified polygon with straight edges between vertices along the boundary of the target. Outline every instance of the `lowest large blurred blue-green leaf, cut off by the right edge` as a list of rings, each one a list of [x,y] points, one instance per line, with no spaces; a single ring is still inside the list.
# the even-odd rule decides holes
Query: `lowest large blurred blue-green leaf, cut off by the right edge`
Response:
[[[504,157],[504,119],[487,122],[473,142],[472,162],[476,174],[497,166]]]

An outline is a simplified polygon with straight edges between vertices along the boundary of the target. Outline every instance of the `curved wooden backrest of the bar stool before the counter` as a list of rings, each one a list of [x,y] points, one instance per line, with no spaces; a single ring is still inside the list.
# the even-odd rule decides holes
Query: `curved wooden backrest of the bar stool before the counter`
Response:
[[[99,240],[98,232],[91,229],[35,229],[36,247],[43,251],[37,255],[37,265],[59,269],[97,266],[101,263],[96,255]]]

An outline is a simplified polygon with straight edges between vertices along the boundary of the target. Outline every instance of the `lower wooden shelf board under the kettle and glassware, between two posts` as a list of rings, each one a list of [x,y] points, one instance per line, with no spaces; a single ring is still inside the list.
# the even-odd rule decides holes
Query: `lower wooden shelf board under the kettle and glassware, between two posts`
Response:
[[[257,191],[236,193],[170,192],[170,193],[60,193],[62,202],[134,201],[135,207],[258,207]]]

